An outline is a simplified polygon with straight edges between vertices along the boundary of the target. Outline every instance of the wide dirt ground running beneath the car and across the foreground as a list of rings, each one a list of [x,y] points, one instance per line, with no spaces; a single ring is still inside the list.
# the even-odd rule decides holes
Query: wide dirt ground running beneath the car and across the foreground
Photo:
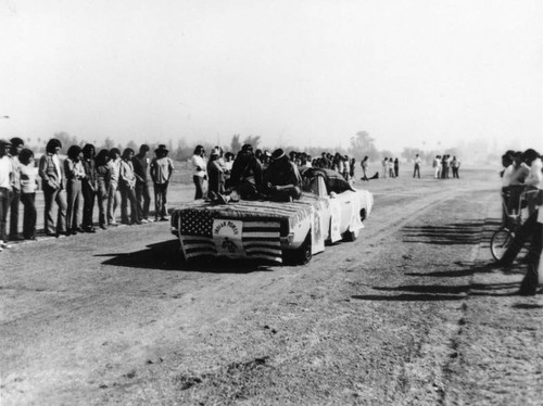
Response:
[[[541,295],[481,271],[497,179],[463,175],[358,183],[359,239],[302,267],[187,266],[165,223],[17,244],[2,405],[541,404]]]

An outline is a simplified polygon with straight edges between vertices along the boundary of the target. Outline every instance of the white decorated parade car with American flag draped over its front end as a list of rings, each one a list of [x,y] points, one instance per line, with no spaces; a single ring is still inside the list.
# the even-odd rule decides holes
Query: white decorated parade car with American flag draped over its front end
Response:
[[[370,214],[374,196],[355,190],[337,172],[301,169],[300,200],[239,200],[185,203],[172,213],[185,261],[201,256],[306,264],[325,242],[354,241]]]

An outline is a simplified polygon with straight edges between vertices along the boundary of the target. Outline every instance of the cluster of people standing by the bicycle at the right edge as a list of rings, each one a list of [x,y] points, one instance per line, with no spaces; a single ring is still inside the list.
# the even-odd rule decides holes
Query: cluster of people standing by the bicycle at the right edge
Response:
[[[502,198],[504,202],[503,221],[512,227],[512,215],[518,215],[526,202],[528,218],[515,227],[515,238],[504,256],[493,266],[509,267],[527,241],[530,250],[525,258],[528,271],[520,284],[519,294],[534,295],[539,287],[539,266],[543,239],[543,164],[541,155],[533,149],[525,152],[506,151],[502,155]]]

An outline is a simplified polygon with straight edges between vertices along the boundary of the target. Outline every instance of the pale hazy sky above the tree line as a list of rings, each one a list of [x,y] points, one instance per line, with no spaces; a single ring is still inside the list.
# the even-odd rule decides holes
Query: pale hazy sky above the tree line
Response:
[[[0,50],[2,138],[543,147],[541,0],[4,0]]]

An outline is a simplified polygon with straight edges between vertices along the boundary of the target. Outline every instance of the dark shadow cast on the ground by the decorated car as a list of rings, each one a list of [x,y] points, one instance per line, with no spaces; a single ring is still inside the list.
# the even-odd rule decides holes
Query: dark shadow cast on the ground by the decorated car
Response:
[[[111,257],[103,265],[123,266],[140,269],[197,271],[211,274],[250,274],[266,271],[277,264],[263,264],[255,261],[228,261],[225,258],[202,258],[185,262],[179,251],[179,241],[168,240],[147,245],[146,250],[129,253],[110,253],[97,256]]]

